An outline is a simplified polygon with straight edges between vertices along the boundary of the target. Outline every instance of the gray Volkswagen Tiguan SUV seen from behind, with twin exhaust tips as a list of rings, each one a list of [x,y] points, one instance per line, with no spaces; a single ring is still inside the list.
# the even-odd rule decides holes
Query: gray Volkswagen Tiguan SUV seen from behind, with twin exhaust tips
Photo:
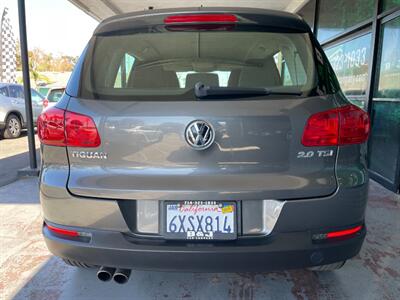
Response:
[[[38,132],[47,246],[103,281],[332,270],[366,234],[369,118],[296,15],[109,18]]]

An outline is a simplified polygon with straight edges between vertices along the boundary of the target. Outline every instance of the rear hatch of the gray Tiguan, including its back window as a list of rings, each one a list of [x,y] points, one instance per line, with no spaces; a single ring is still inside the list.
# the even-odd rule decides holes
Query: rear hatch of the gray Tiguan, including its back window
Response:
[[[161,27],[159,27],[161,28]],[[109,199],[255,200],[333,193],[336,146],[305,147],[318,95],[308,33],[196,26],[96,35],[79,97],[101,143],[68,147],[71,193]],[[196,84],[211,91],[196,96]],[[190,145],[188,125],[213,143]]]

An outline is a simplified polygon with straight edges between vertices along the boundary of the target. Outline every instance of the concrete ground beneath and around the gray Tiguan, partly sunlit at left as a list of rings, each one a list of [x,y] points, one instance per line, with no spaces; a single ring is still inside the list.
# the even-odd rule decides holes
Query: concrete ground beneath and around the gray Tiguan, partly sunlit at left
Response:
[[[400,196],[373,181],[361,253],[328,273],[134,271],[103,283],[53,257],[41,224],[36,178],[0,188],[0,299],[400,299]]]

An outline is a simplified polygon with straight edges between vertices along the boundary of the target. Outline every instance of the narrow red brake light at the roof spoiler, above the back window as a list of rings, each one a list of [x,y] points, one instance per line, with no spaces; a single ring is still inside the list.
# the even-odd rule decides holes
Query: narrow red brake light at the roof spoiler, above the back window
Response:
[[[164,19],[165,24],[175,23],[236,23],[235,15],[229,14],[191,14],[168,16]]]

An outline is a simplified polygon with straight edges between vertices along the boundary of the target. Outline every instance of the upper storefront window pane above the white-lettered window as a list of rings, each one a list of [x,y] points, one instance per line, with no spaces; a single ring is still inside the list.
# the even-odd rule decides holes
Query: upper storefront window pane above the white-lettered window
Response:
[[[326,41],[372,18],[376,0],[321,0],[317,37]]]

